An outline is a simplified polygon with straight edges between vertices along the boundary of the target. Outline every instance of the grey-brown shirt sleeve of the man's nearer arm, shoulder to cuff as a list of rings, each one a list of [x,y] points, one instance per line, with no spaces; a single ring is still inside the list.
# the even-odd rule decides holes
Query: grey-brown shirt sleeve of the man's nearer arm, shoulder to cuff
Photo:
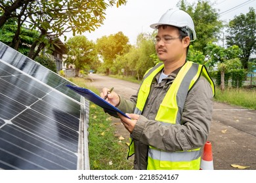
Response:
[[[191,150],[205,144],[211,125],[213,92],[203,77],[188,93],[184,103],[181,124],[162,125],[140,115],[133,139],[161,150]]]

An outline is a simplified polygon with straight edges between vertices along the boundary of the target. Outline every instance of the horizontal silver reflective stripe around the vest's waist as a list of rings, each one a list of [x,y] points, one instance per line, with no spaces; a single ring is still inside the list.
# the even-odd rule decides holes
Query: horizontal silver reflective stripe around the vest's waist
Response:
[[[181,152],[165,152],[149,148],[148,156],[152,159],[158,159],[161,161],[192,161],[200,158],[201,151],[181,151]]]

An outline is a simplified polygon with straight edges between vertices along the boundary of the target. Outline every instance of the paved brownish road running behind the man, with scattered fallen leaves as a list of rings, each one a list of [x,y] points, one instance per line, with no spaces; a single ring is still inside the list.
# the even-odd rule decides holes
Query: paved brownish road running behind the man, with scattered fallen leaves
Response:
[[[123,97],[136,93],[139,84],[119,80],[108,76],[90,74],[89,83],[98,90],[112,88]],[[129,133],[117,118],[112,118],[118,135],[129,139]],[[117,125],[119,122],[119,125]],[[231,165],[246,167],[245,170],[256,170],[256,110],[214,102],[213,120],[209,137],[213,151],[215,170],[235,170]]]

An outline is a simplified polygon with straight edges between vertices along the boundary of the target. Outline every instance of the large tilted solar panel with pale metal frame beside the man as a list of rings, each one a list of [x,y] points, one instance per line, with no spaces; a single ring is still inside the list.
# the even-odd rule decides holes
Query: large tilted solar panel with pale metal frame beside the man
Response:
[[[89,102],[66,84],[0,42],[0,169],[89,169]]]

